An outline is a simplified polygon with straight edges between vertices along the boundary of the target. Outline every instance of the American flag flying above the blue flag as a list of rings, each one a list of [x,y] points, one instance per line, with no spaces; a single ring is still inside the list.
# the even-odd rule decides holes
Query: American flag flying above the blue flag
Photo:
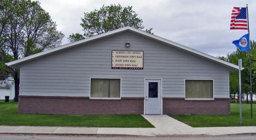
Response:
[[[234,7],[231,14],[230,30],[248,30],[246,7]]]

